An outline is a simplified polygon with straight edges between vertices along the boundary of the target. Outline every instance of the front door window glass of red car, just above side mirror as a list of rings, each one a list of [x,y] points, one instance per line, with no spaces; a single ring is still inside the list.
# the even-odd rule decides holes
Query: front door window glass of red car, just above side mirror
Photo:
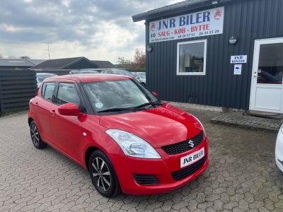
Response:
[[[80,105],[80,98],[73,83],[59,83],[57,105],[65,103]]]

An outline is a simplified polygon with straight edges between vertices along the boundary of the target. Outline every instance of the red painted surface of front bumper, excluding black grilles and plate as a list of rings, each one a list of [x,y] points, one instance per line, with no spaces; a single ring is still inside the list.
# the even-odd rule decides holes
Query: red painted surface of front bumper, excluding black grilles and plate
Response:
[[[175,181],[171,176],[171,172],[180,170],[180,158],[199,150],[203,146],[205,149],[204,154],[207,157],[204,165],[189,177]],[[207,138],[201,146],[198,146],[193,151],[169,156],[161,149],[158,149],[158,153],[160,153],[162,159],[140,159],[130,158],[121,154],[112,155],[112,162],[115,164],[115,167],[118,167],[116,172],[123,192],[127,194],[143,195],[169,192],[195,179],[195,177],[204,172],[209,165]],[[133,174],[155,175],[161,184],[149,186],[137,184],[137,182],[134,181]]]

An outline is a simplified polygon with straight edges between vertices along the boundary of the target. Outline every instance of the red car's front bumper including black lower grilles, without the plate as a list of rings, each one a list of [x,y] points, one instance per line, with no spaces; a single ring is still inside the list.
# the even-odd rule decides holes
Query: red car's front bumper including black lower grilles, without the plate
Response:
[[[202,148],[204,156],[200,160],[180,167],[181,158],[192,155]],[[169,192],[195,179],[209,165],[206,136],[199,146],[185,153],[168,155],[162,149],[156,151],[161,155],[161,159],[141,159],[125,155],[116,155],[117,158],[112,158],[122,192],[139,195]]]

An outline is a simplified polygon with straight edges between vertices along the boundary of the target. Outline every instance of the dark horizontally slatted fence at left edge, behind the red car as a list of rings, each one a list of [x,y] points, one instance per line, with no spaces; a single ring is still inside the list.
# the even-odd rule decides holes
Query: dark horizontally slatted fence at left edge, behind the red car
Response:
[[[36,92],[35,71],[0,71],[0,115],[28,110],[30,98]]]

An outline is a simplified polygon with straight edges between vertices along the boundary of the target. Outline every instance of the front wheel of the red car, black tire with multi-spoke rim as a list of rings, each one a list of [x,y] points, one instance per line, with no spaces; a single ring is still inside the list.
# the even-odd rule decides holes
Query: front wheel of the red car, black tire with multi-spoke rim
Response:
[[[105,153],[93,151],[88,168],[93,185],[101,195],[114,197],[121,193],[115,169]]]

